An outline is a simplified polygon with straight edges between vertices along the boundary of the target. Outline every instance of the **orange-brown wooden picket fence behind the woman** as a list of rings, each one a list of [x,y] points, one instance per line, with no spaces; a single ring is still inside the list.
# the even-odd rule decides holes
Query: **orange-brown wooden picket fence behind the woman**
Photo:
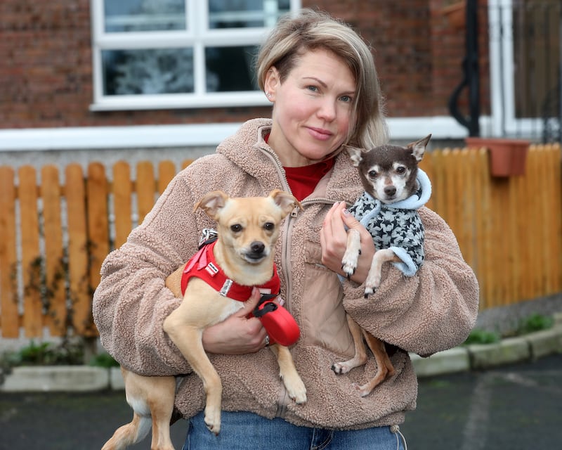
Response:
[[[525,175],[508,179],[490,176],[485,150],[434,150],[422,167],[433,183],[429,207],[478,276],[481,309],[562,291],[560,146],[531,146]],[[126,162],[111,176],[99,162],[86,174],[78,164],[63,174],[51,165],[39,174],[0,167],[2,338],[41,337],[44,328],[97,334],[91,299],[100,264],[177,172],[170,161],[134,169],[133,177]]]

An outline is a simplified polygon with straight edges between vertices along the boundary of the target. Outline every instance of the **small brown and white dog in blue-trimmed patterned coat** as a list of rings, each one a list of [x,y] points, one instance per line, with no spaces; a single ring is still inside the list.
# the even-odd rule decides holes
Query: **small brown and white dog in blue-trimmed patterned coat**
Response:
[[[379,288],[385,262],[393,262],[405,276],[413,276],[424,261],[424,227],[417,208],[429,200],[431,183],[418,164],[429,139],[431,134],[405,147],[386,145],[371,150],[347,148],[365,188],[365,192],[349,210],[370,231],[377,248],[365,280],[365,298]],[[355,272],[359,255],[359,232],[350,229],[341,262],[348,277]],[[365,364],[365,338],[377,362],[374,378],[365,385],[355,386],[365,397],[374,387],[391,377],[394,368],[384,342],[362,330],[349,315],[347,321],[353,335],[355,356],[349,361],[335,363],[332,370],[335,373],[347,373]]]

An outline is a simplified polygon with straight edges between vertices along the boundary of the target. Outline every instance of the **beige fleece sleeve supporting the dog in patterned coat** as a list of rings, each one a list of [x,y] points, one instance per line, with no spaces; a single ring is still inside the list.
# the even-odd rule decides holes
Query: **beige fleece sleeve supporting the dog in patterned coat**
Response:
[[[425,207],[419,214],[425,261],[417,274],[405,277],[385,264],[381,286],[367,299],[364,284],[346,281],[344,307],[377,338],[426,356],[469,335],[478,314],[478,281],[445,221]]]

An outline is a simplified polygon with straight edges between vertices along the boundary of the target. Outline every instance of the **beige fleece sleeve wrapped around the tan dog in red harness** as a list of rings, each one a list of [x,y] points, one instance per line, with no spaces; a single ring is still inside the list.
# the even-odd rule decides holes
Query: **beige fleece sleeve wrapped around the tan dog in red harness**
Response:
[[[176,375],[191,368],[162,330],[180,299],[166,276],[197,249],[197,215],[190,190],[174,179],[155,207],[101,268],[93,296],[100,340],[119,364],[141,375]]]

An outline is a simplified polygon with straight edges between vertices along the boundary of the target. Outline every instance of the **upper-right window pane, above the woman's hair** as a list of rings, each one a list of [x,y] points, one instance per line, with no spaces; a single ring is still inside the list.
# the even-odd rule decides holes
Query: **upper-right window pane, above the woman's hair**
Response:
[[[289,0],[209,0],[209,28],[273,27]]]

